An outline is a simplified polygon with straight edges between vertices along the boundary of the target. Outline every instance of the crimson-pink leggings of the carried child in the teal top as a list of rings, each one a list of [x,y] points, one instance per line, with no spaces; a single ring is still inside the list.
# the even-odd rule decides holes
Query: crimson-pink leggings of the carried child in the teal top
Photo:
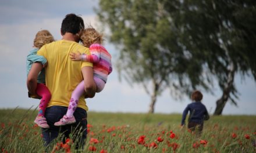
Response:
[[[51,100],[51,92],[49,91],[47,86],[44,85],[44,83],[37,83],[36,92],[38,96],[42,97],[38,108],[38,116],[44,116],[45,108]]]

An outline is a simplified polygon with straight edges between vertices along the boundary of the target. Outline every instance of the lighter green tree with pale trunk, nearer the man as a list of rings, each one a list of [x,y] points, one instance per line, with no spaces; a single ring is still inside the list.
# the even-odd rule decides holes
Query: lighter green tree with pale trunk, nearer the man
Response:
[[[171,8],[168,12],[165,5]],[[120,76],[143,85],[151,96],[151,113],[166,88],[175,96],[197,86],[207,89],[201,61],[193,60],[179,41],[174,22],[179,7],[179,1],[108,0],[100,1],[96,10],[111,31],[110,41],[120,48]]]

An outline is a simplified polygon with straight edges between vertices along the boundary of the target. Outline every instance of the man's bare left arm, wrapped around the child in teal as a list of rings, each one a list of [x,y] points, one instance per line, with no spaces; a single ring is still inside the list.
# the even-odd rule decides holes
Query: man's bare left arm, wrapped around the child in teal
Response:
[[[37,76],[42,70],[42,67],[43,65],[41,63],[33,63],[29,75],[27,75],[27,89],[31,95],[37,95],[35,92],[37,89]]]

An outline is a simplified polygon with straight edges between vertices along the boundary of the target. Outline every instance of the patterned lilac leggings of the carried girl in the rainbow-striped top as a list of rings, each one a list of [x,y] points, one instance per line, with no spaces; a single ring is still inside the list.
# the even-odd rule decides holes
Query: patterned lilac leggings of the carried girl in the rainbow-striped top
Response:
[[[102,79],[99,79],[97,77],[94,77],[94,82],[97,86],[97,93],[101,92],[105,86],[105,82]],[[71,117],[76,110],[79,98],[84,94],[84,81],[80,82],[79,85],[76,86],[76,89],[74,89],[71,99],[69,101],[69,108],[67,109],[67,116]]]

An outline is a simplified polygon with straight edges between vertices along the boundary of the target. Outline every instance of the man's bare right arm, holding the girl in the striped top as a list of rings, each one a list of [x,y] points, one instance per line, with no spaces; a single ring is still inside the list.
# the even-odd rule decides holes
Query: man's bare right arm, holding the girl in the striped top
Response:
[[[93,79],[93,67],[81,68],[84,78],[84,91],[86,92],[86,98],[93,98],[96,92],[96,85]]]

